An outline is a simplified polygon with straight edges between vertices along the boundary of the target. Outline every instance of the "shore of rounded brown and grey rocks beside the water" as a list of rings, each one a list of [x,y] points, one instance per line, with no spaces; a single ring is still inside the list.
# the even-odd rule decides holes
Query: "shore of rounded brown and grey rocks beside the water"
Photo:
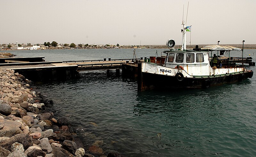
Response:
[[[93,157],[106,156],[95,141],[84,149],[69,131],[65,117],[53,118],[53,103],[30,88],[31,81],[14,70],[0,70],[0,157]],[[108,153],[108,157],[122,157]]]

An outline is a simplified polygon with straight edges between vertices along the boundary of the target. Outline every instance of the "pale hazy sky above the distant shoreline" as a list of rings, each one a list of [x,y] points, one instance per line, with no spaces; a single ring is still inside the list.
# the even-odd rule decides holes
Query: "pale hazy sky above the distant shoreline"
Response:
[[[181,44],[186,0],[1,0],[0,43]],[[191,44],[256,44],[256,0],[189,0]],[[187,44],[190,35],[187,34]]]

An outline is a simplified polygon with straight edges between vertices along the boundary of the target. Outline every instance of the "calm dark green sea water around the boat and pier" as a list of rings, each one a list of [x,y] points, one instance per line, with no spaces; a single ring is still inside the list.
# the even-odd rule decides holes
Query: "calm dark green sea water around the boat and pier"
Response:
[[[164,49],[157,49],[160,56]],[[133,49],[8,51],[47,61],[132,58]],[[138,57],[156,49],[137,49]],[[256,50],[244,50],[253,59]],[[233,52],[241,57],[241,52]],[[255,61],[255,59],[254,59]],[[247,69],[256,70],[247,66]],[[103,140],[108,152],[127,156],[255,156],[256,76],[198,90],[137,91],[137,81],[115,70],[80,72],[78,79],[35,84],[54,101],[56,115],[79,128],[88,147]],[[161,80],[156,80],[161,81]],[[93,123],[92,123],[93,122]],[[95,123],[95,124],[94,124]],[[97,125],[97,126],[95,126]]]

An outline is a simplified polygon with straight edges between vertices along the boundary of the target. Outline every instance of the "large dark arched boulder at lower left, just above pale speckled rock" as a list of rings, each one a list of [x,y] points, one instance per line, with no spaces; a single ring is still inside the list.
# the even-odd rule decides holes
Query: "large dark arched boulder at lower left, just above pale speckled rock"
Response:
[[[32,137],[27,134],[17,134],[9,139],[5,139],[1,141],[0,147],[11,151],[11,145],[15,142],[18,142],[23,145],[24,149],[28,149],[28,147],[32,146]]]

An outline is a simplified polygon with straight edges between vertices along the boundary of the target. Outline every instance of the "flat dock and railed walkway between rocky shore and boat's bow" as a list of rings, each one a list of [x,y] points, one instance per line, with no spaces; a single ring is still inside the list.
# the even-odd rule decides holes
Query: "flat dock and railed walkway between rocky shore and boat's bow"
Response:
[[[42,57],[40,57],[42,59]],[[4,59],[0,64],[1,69],[12,69],[16,73],[24,75],[32,81],[65,80],[76,78],[79,71],[108,70],[116,69],[119,74],[122,64],[132,59],[106,59],[102,60],[79,60],[79,61],[57,61],[57,62],[36,62],[40,58]],[[44,58],[44,57],[43,57]],[[7,60],[7,61],[6,61]],[[31,62],[28,62],[30,60]],[[8,62],[8,63],[6,63]]]

